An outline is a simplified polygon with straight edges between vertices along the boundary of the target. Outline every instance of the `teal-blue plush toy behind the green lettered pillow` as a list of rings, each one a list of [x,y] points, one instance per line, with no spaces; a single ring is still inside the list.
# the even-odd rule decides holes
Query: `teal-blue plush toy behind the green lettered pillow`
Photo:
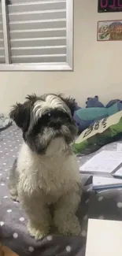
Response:
[[[74,119],[79,127],[79,132],[83,132],[94,121],[109,117],[120,110],[122,110],[122,101],[116,99],[110,101],[106,106],[98,101],[98,96],[94,98],[87,98],[86,109],[76,109]]]

